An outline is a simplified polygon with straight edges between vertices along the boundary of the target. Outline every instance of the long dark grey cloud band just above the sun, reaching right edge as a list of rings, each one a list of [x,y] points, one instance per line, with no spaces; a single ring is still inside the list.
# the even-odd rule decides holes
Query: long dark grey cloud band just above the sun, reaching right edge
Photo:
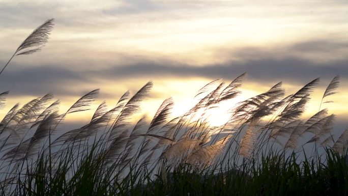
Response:
[[[124,67],[115,67],[101,71],[103,75],[126,78],[130,76],[175,76],[191,77],[200,76],[207,78],[233,79],[238,74],[248,72],[250,79],[254,81],[290,81],[297,84],[309,81],[320,76],[347,76],[346,66],[348,61],[332,62],[318,66],[310,61],[295,58],[282,60],[263,59],[247,61],[243,63],[228,63],[224,65],[208,65],[196,67],[189,65],[165,66],[155,63],[143,63]],[[232,77],[232,78],[231,78]]]

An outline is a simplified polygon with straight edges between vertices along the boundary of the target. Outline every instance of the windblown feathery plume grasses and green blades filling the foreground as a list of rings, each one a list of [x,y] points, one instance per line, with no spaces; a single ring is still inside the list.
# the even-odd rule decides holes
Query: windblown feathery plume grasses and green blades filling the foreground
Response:
[[[31,48],[47,41],[52,21],[39,26],[13,57],[38,51]],[[348,130],[335,137],[334,115],[322,109],[339,77],[329,83],[309,119],[302,114],[318,78],[292,95],[284,96],[277,83],[230,104],[230,118],[211,126],[211,110],[236,99],[244,77],[208,83],[179,117],[171,116],[169,98],[151,120],[143,117],[135,124],[134,114],[152,82],[133,96],[127,91],[112,108],[102,102],[90,123],[72,130],[60,130],[61,124],[69,114],[90,109],[98,90],[63,114],[51,94],[16,104],[0,123],[0,193],[346,195]],[[1,105],[7,94],[0,94]]]

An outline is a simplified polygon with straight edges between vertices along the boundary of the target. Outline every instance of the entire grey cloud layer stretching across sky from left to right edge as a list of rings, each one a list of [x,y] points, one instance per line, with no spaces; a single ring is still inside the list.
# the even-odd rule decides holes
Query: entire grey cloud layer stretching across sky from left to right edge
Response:
[[[336,43],[336,45],[335,45]],[[328,48],[335,52],[334,48],[347,47],[344,43],[328,42]],[[321,47],[318,47],[321,46]],[[310,41],[295,44],[287,48],[288,53],[293,48],[309,51],[325,47],[323,41]],[[12,95],[33,95],[40,96],[47,92],[52,92],[59,96],[75,95],[79,96],[86,88],[102,88],[103,81],[124,81],[127,79],[140,78],[143,82],[152,78],[165,77],[205,77],[210,79],[224,78],[234,79],[241,73],[248,72],[248,80],[260,83],[275,83],[283,81],[294,85],[302,86],[306,82],[323,77],[329,80],[339,74],[342,82],[347,84],[348,59],[328,61],[323,63],[305,60],[299,57],[287,56],[287,49],[282,49],[282,58],[272,55],[272,52],[264,52],[262,49],[242,49],[234,51],[243,54],[242,60],[231,61],[220,65],[206,65],[203,67],[177,64],[169,61],[158,61],[156,59],[136,59],[132,62],[129,58],[127,65],[115,64],[108,68],[98,71],[91,71],[89,67],[70,70],[64,64],[23,66],[10,65],[16,69],[8,67],[0,76],[3,91],[10,90]],[[226,53],[226,52],[225,52]],[[228,52],[227,52],[228,53]],[[5,62],[0,62],[4,64]],[[100,63],[99,63],[100,64]],[[96,65],[98,66],[98,65]],[[120,82],[122,85],[122,82]],[[155,84],[156,85],[156,84]],[[204,84],[202,84],[204,85]],[[83,88],[81,88],[83,87]]]

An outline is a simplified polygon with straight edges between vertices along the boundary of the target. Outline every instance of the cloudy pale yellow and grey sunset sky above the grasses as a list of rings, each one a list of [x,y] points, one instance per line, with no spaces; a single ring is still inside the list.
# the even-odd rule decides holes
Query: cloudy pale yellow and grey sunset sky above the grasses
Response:
[[[321,77],[309,116],[339,74],[334,102],[324,107],[342,131],[348,127],[347,10],[346,1],[0,0],[0,66],[35,27],[55,19],[42,51],[15,57],[0,75],[2,91],[10,91],[0,115],[48,92],[68,108],[97,88],[99,103],[113,106],[149,80],[154,88],[143,114],[153,116],[172,97],[179,115],[206,83],[247,72],[243,98],[279,81],[288,95]]]

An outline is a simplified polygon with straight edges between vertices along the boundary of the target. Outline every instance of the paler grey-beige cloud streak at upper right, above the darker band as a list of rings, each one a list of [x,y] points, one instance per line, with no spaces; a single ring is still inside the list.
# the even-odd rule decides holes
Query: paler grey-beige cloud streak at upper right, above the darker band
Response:
[[[301,59],[317,65],[347,60],[348,40],[345,38],[318,38],[273,46],[220,48],[219,57],[236,61],[258,61],[264,59]]]

